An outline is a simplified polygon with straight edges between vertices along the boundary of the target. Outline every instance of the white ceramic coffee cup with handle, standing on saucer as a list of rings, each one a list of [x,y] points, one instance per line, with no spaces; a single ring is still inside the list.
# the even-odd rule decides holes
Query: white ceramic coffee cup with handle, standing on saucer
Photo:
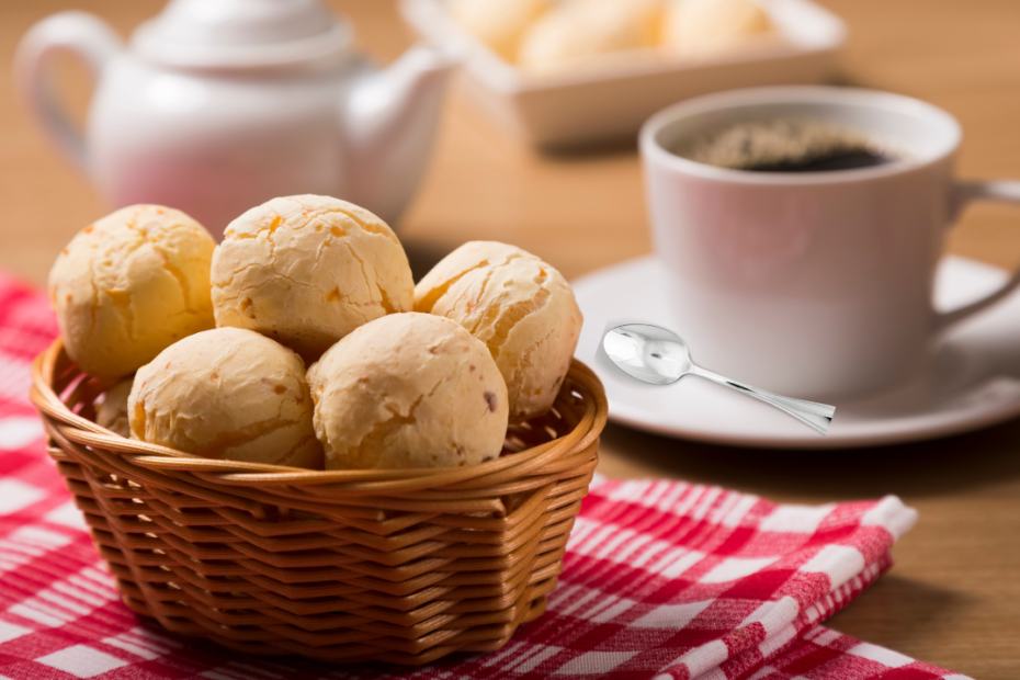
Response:
[[[903,158],[854,170],[730,170],[672,154],[730,123],[812,118],[892,140]],[[948,227],[975,199],[1020,203],[1020,182],[959,182],[959,123],[870,90],[778,87],[688,100],[641,133],[656,250],[699,364],[795,397],[868,394],[919,367],[940,331],[1020,285],[949,314],[932,306]],[[654,320],[651,320],[654,322]],[[1020,340],[1020,339],[1018,339]]]

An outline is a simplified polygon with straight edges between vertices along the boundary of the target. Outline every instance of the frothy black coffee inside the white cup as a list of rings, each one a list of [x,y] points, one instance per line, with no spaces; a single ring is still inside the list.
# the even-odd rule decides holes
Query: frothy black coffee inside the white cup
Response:
[[[690,160],[751,172],[828,172],[898,160],[891,145],[853,128],[816,120],[736,123],[682,140],[673,149]]]

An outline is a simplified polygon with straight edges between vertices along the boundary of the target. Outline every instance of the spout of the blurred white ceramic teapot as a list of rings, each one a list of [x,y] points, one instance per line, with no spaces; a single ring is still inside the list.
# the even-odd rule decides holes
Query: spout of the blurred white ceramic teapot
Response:
[[[455,65],[450,54],[418,45],[355,82],[344,106],[350,201],[387,223],[400,216],[424,171]]]

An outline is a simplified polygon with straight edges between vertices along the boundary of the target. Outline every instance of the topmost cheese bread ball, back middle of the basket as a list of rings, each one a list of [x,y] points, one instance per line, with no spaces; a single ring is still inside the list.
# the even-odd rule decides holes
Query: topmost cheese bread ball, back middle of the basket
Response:
[[[352,330],[411,309],[404,248],[372,213],[329,196],[273,199],[235,219],[213,256],[218,327],[318,359]]]

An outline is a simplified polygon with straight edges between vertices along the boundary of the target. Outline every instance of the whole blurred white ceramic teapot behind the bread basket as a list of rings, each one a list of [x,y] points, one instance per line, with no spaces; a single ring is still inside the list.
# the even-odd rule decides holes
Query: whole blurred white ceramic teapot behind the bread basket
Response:
[[[58,52],[95,78],[87,129],[52,93]],[[20,88],[43,128],[115,206],[183,209],[217,238],[273,196],[335,195],[395,220],[422,174],[446,76],[416,46],[386,70],[317,0],[171,0],[129,47],[64,12],[24,36]]]

